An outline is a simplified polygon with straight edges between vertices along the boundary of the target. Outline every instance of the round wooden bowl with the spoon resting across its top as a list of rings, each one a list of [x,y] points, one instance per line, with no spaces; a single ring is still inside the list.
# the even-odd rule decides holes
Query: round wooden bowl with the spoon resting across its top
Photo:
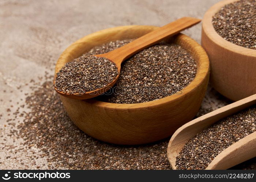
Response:
[[[95,46],[109,41],[137,38],[157,28],[132,25],[87,35],[61,54],[55,74],[65,63]],[[75,100],[60,95],[65,110],[76,126],[101,141],[138,145],[169,137],[177,128],[190,121],[199,110],[206,92],[209,60],[203,48],[188,36],[179,34],[172,41],[191,52],[197,62],[196,77],[187,87],[171,96],[136,104],[107,103],[97,99]]]

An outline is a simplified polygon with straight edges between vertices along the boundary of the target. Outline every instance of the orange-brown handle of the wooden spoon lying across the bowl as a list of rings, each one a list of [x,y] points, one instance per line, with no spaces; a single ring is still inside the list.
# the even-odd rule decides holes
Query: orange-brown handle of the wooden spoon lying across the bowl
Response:
[[[200,19],[193,17],[182,17],[181,19],[173,21],[172,23],[160,27],[155,31],[147,33],[146,35],[143,35],[142,37],[139,37],[138,39],[116,50],[102,54],[101,56],[112,60],[119,66],[125,59],[135,55],[137,52],[140,52],[147,47],[153,46],[163,39],[171,37],[186,28],[192,27],[200,21]]]

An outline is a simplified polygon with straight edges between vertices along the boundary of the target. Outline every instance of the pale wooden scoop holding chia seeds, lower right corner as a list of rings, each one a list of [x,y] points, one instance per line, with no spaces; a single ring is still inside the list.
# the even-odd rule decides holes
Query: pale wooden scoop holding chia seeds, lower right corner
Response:
[[[212,111],[178,128],[170,139],[167,148],[167,156],[172,169],[176,169],[176,157],[189,139],[220,119],[241,111],[246,107],[250,107],[253,104],[256,104],[256,94]],[[256,131],[219,153],[206,169],[229,169],[253,157],[256,157]]]

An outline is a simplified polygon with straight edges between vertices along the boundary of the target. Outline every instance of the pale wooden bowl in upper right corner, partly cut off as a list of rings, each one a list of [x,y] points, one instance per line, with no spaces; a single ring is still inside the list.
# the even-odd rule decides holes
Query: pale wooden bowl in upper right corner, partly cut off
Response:
[[[234,1],[221,1],[205,13],[202,46],[210,59],[212,86],[227,98],[240,100],[256,94],[256,50],[225,40],[212,25],[212,16]]]

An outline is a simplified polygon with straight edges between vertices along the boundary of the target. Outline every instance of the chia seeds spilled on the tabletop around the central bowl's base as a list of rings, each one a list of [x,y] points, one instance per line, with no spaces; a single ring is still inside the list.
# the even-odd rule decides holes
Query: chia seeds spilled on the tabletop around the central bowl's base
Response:
[[[40,149],[48,169],[170,169],[168,139],[149,145],[119,146],[79,130],[65,112],[52,81],[39,83],[26,97],[26,107],[31,111],[23,113],[24,121],[11,133],[25,140],[23,146]]]

